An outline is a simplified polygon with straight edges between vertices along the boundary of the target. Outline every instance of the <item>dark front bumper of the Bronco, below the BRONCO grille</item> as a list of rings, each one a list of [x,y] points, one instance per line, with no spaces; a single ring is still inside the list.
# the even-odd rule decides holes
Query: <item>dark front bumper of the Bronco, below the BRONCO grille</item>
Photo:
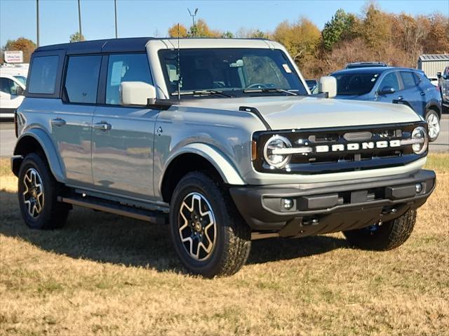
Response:
[[[366,180],[229,189],[253,231],[310,236],[367,227],[419,208],[435,188],[432,170]],[[417,192],[417,184],[421,191]],[[283,208],[283,199],[293,207]]]

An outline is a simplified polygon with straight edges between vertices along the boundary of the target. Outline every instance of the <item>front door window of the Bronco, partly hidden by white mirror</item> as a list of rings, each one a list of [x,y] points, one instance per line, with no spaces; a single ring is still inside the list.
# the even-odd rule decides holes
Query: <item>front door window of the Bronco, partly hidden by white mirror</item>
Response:
[[[119,87],[123,81],[143,81],[152,84],[147,54],[109,55],[106,104],[120,104]]]

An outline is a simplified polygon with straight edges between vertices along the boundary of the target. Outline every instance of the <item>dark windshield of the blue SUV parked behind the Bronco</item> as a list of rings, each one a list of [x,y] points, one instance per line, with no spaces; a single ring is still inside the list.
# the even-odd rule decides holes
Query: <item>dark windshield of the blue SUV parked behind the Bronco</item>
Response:
[[[379,74],[332,74],[337,79],[337,95],[365,95],[373,90]]]

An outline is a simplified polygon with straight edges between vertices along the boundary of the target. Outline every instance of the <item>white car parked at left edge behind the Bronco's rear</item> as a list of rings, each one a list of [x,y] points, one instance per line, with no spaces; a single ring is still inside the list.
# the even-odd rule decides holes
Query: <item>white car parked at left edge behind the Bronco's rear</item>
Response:
[[[0,119],[13,118],[14,112],[22,104],[27,77],[0,72]]]

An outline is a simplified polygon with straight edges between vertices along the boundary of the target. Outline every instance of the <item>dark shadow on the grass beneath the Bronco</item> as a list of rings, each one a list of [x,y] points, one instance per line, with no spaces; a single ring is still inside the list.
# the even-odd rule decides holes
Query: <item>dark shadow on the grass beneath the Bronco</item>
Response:
[[[172,248],[168,225],[74,207],[62,229],[33,230],[22,220],[17,194],[5,190],[0,190],[0,209],[0,234],[43,250],[95,262],[185,271]],[[345,247],[344,239],[331,236],[264,239],[252,242],[248,264],[308,257]]]

